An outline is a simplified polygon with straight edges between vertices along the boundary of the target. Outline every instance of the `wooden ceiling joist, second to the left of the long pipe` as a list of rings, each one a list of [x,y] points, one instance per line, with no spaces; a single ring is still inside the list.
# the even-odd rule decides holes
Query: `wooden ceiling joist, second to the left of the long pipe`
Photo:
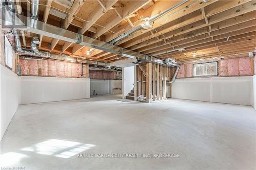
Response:
[[[90,22],[83,22],[82,28],[79,30],[80,34],[83,34],[87,30],[89,30],[97,20],[104,15],[105,11],[108,11],[113,5],[115,5],[118,0],[106,1],[105,10],[101,9],[101,5],[98,5],[87,17],[86,20],[90,20]],[[96,31],[97,32],[97,31]]]

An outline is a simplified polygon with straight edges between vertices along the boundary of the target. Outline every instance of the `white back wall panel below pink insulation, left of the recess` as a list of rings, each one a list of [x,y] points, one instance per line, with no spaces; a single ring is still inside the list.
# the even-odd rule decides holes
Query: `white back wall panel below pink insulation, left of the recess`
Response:
[[[22,76],[21,104],[90,98],[90,79]]]

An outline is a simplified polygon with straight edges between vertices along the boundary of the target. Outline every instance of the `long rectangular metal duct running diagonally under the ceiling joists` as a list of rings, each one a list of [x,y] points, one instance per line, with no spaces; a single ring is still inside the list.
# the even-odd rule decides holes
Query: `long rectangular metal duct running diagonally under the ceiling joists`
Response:
[[[118,54],[124,57],[135,58],[139,60],[156,62],[162,65],[166,65],[163,60],[159,60],[153,57],[148,57],[147,55],[140,54],[134,51],[126,50],[119,46],[102,42],[102,41],[93,39],[91,37],[83,36],[81,34],[74,33],[72,31],[68,31],[59,27],[55,27],[55,26],[49,25],[48,23],[41,22],[23,15],[16,14],[15,16],[13,16],[13,13],[11,13],[10,11],[6,9],[2,9],[2,10],[5,10],[5,11],[3,12],[4,15],[1,18],[1,23],[5,23],[6,27],[16,28],[16,29],[20,29],[20,28],[28,29],[28,31],[31,33],[48,36],[48,37],[56,38],[63,41],[69,41],[69,42],[77,43],[83,46],[89,46],[105,52]],[[8,17],[8,16],[13,16],[14,18]],[[178,64],[173,64],[170,66],[177,67]]]

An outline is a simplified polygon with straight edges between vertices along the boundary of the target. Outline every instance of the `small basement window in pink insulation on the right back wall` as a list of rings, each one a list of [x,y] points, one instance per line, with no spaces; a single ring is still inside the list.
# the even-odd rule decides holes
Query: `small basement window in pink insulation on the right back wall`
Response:
[[[193,70],[195,77],[218,76],[218,62],[194,64]]]

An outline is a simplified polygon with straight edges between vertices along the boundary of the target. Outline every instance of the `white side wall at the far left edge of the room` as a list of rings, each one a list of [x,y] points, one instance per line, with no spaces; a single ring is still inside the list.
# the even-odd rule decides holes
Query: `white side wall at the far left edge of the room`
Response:
[[[20,77],[18,77],[9,68],[0,64],[0,80],[0,119],[2,140],[20,101]]]

